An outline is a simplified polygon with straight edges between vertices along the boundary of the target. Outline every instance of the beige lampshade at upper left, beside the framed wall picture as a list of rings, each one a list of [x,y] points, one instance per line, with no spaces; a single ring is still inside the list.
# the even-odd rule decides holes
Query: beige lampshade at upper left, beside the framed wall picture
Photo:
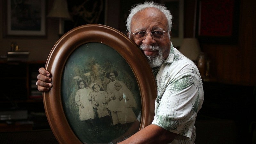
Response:
[[[47,17],[71,19],[66,0],[55,0]]]

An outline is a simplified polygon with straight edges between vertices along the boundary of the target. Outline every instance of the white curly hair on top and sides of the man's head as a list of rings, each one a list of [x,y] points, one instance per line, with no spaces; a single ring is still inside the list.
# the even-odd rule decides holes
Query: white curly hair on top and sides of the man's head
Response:
[[[171,14],[171,12],[164,5],[156,4],[155,2],[145,2],[143,4],[137,4],[135,7],[132,7],[131,12],[126,19],[127,30],[131,33],[131,22],[132,22],[133,16],[137,12],[140,12],[148,7],[157,8],[158,10],[160,10],[161,12],[164,13],[164,15],[166,16],[167,21],[168,21],[168,31],[171,31],[171,29],[172,29],[172,14]]]

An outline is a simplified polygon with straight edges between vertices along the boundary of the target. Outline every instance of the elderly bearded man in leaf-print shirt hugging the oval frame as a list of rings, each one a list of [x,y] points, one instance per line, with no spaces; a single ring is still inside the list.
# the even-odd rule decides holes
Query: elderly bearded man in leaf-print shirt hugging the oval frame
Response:
[[[170,42],[170,11],[154,2],[139,4],[132,8],[126,26],[156,76],[157,99],[152,124],[121,143],[194,143],[194,124],[204,100],[202,79],[196,65]],[[39,73],[38,90],[48,91],[50,73],[44,68]]]

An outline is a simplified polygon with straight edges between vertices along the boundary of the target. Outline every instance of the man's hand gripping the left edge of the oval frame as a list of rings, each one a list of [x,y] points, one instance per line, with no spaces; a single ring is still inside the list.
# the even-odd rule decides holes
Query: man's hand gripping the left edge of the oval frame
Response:
[[[44,69],[44,68],[39,68],[38,70],[39,75],[37,75],[37,82],[36,85],[38,86],[37,89],[40,92],[47,92],[50,90],[52,87],[52,79],[50,78],[50,73]]]

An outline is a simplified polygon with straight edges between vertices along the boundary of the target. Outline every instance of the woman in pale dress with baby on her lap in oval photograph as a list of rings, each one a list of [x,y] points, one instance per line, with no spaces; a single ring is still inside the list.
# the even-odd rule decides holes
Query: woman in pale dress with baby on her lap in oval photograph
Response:
[[[132,107],[136,107],[136,102],[132,93],[124,90],[119,82],[115,83],[115,91],[113,91],[108,109],[111,111],[113,125],[127,124],[137,120]]]

